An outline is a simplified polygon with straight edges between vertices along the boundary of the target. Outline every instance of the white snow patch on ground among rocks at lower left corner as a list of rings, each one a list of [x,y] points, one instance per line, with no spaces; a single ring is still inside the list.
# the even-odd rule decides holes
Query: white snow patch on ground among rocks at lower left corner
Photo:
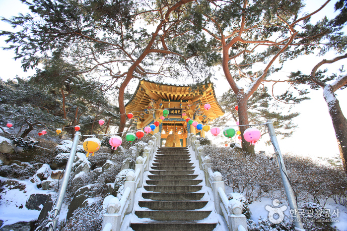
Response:
[[[0,181],[8,180],[8,178],[0,177]],[[43,191],[36,187],[36,184],[29,180],[16,180],[25,185],[24,190],[4,188],[1,192],[0,201],[0,220],[3,226],[11,225],[17,222],[35,221],[40,215],[38,210],[30,210],[25,207],[26,201],[31,194],[48,194],[49,191]]]

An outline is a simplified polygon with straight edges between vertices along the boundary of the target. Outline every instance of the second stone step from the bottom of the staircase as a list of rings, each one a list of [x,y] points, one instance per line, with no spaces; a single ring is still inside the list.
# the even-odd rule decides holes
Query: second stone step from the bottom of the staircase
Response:
[[[203,210],[138,210],[138,218],[149,218],[155,221],[200,221],[212,211]]]

